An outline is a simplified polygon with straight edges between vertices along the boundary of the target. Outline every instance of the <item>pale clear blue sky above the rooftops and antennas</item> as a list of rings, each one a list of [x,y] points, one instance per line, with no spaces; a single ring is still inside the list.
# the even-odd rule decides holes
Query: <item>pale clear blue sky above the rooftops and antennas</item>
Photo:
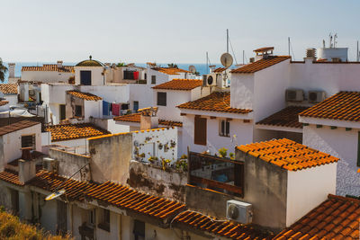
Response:
[[[242,50],[275,46],[297,60],[338,32],[338,47],[356,57],[360,1],[315,0],[13,0],[0,4],[4,61],[220,62],[225,32]]]

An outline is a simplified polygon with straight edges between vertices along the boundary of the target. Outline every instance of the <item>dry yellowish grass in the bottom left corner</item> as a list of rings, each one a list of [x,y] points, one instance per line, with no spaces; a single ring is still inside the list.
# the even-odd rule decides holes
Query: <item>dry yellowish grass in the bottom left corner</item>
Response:
[[[0,212],[0,239],[7,240],[69,240],[70,237],[51,236],[35,226],[22,223],[7,212]]]

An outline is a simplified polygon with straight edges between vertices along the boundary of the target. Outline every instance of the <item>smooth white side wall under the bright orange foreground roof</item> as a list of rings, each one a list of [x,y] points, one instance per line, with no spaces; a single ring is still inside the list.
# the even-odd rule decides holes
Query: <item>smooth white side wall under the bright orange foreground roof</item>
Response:
[[[287,172],[286,227],[335,194],[337,163]]]

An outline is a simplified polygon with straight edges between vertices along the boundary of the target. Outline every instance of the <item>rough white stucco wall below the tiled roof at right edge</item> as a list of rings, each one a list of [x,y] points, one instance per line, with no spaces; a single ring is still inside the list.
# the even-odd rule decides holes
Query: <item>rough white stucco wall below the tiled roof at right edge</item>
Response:
[[[360,178],[357,173],[357,143],[359,129],[330,129],[315,125],[303,127],[303,144],[340,158],[337,171],[337,194],[360,195]]]

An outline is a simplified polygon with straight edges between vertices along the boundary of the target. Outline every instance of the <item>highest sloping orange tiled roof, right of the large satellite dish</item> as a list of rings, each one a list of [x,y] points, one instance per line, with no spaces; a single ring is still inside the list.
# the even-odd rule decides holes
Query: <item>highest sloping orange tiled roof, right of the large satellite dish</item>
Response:
[[[263,58],[257,60],[256,62],[247,64],[244,67],[238,67],[234,70],[231,70],[230,73],[233,74],[252,74],[257,71],[263,70],[266,67],[271,67],[275,64],[283,62],[284,60],[290,59],[289,56],[269,56],[267,58]]]

